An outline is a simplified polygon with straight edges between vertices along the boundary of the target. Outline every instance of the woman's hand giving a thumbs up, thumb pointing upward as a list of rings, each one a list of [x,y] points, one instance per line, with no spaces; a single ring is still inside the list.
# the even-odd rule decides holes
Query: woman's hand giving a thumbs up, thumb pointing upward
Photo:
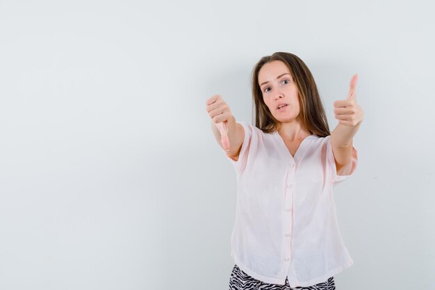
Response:
[[[347,98],[334,102],[334,117],[338,119],[338,124],[354,127],[363,121],[363,109],[356,103],[356,81],[358,74],[354,74],[350,80]]]

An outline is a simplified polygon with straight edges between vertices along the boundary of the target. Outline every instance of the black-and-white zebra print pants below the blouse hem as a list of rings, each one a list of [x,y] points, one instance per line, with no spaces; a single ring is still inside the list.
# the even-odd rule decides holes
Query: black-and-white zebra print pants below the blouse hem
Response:
[[[310,287],[291,288],[286,278],[285,285],[268,284],[256,280],[254,277],[247,275],[235,264],[229,280],[229,290],[336,290],[334,277],[329,277],[326,282],[315,284]]]

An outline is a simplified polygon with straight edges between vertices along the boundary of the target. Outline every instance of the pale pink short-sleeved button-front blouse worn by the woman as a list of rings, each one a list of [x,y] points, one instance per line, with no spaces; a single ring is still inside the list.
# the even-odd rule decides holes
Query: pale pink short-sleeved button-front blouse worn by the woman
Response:
[[[306,137],[293,157],[275,131],[247,122],[236,169],[236,218],[231,257],[256,280],[308,287],[352,266],[338,228],[333,185],[356,169],[355,147],[348,175],[337,175],[331,136]]]

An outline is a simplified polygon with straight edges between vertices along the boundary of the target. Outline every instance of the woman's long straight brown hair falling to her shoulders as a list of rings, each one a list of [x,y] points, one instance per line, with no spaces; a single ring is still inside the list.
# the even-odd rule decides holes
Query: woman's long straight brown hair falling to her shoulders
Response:
[[[271,56],[263,56],[256,63],[254,70],[252,70],[252,99],[255,105],[255,126],[264,133],[277,131],[277,123],[279,121],[273,117],[268,106],[266,106],[263,100],[263,92],[261,92],[260,84],[258,83],[258,72],[260,72],[263,65],[271,61],[282,61],[288,67],[288,70],[290,70],[290,74],[297,87],[297,95],[299,96],[301,109],[297,120],[299,120],[302,127],[320,137],[331,135],[325,109],[323,108],[317,86],[315,86],[313,75],[299,57],[288,52],[278,51]]]

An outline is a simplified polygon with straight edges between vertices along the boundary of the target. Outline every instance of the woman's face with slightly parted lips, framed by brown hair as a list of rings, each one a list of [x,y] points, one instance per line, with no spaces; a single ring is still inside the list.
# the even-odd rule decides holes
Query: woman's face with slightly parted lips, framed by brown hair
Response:
[[[290,122],[299,115],[297,87],[290,70],[282,61],[266,63],[258,72],[263,100],[279,122]],[[286,104],[278,108],[280,104]]]

